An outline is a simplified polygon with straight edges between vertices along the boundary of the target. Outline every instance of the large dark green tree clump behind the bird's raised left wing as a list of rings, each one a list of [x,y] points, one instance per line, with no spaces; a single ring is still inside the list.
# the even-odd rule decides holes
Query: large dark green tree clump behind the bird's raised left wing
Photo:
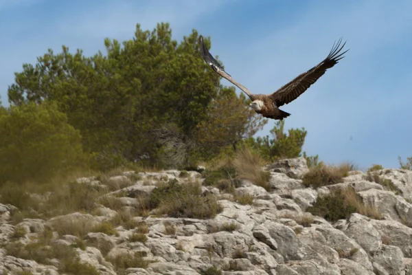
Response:
[[[187,165],[260,129],[263,120],[244,96],[222,87],[203,61],[196,30],[178,43],[168,23],[151,32],[137,24],[133,39],[104,45],[105,55],[89,57],[65,46],[48,50],[36,65],[24,64],[8,89],[14,105],[57,102],[82,134],[93,168]],[[208,120],[212,133],[203,135]]]

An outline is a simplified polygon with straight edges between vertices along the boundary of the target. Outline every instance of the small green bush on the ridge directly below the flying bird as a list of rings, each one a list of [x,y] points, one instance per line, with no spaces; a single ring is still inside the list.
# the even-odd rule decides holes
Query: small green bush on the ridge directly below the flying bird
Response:
[[[289,129],[284,133],[285,120],[278,120],[271,130],[273,138],[257,137],[244,140],[244,144],[258,151],[268,161],[282,158],[300,157],[304,146],[307,131],[302,129]]]

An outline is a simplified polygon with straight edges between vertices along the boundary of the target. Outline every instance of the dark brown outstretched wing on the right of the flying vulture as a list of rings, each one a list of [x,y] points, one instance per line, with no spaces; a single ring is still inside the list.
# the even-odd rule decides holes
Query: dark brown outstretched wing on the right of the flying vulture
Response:
[[[304,93],[310,85],[315,83],[323,74],[325,74],[326,70],[333,67],[339,60],[341,60],[348,50],[345,52],[341,52],[343,46],[345,46],[346,42],[343,43],[341,46],[342,39],[339,39],[338,43],[334,43],[332,46],[332,50],[328,56],[321,61],[312,69],[309,69],[307,72],[300,74],[295,79],[275,91],[269,97],[273,102],[275,102],[277,107],[282,106],[283,104],[288,104],[289,102],[295,100],[298,96]]]

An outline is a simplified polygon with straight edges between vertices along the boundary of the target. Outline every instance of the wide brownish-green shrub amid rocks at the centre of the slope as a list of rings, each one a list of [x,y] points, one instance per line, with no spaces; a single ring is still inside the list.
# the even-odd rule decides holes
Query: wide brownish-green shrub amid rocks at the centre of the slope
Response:
[[[158,214],[195,219],[211,219],[222,211],[214,195],[202,195],[198,183],[163,184],[152,190],[148,206],[157,208]]]

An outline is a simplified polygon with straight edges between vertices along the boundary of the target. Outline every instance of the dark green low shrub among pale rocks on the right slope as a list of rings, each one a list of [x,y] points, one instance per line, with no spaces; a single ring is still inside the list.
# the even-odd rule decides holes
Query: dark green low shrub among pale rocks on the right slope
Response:
[[[317,201],[306,209],[316,216],[323,217],[327,221],[346,219],[350,214],[356,212],[356,206],[348,203],[343,192],[334,192],[325,197],[318,197]]]

